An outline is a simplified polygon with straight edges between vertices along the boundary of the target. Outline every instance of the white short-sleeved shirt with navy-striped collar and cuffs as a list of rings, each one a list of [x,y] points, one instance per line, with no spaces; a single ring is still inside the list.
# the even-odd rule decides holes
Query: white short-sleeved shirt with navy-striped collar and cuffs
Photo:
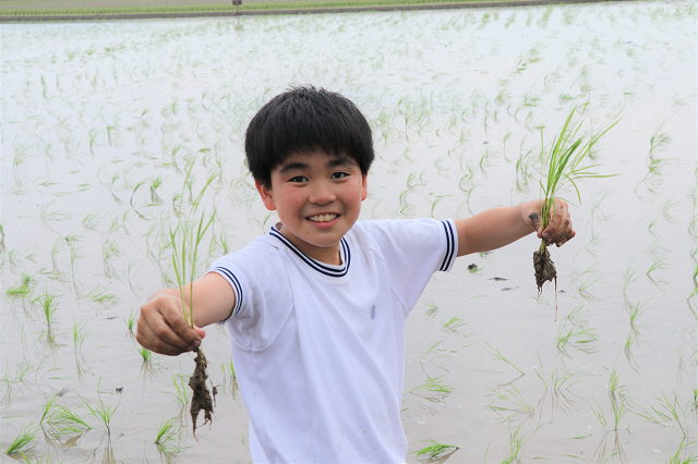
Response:
[[[340,266],[277,229],[214,262],[236,292],[225,322],[255,463],[405,462],[405,319],[450,270],[453,221],[359,221]]]

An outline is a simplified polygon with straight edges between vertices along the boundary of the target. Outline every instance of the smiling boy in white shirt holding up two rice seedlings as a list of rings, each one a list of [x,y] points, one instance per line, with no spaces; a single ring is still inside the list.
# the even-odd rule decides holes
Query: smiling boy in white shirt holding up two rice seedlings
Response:
[[[455,221],[357,221],[371,129],[349,100],[313,87],[266,103],[245,154],[280,222],[194,282],[195,329],[179,289],[151,296],[139,342],[178,355],[225,321],[254,462],[405,462],[404,322],[431,274],[535,230],[562,245],[575,235],[567,205],[544,231],[540,200]]]

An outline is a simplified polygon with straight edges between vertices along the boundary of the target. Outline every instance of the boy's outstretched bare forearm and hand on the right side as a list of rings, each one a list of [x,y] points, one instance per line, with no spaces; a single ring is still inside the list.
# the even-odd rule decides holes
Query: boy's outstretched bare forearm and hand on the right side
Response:
[[[575,236],[567,204],[555,198],[555,211],[545,230],[541,230],[542,200],[517,206],[498,207],[482,211],[471,218],[457,219],[458,256],[489,252],[516,242],[537,231],[539,239],[562,246]]]

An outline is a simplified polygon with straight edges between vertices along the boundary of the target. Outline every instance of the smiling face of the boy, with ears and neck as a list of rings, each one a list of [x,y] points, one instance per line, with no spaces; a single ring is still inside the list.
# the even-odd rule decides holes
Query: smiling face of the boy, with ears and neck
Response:
[[[368,195],[353,159],[321,149],[293,154],[272,171],[272,188],[255,184],[264,206],[279,216],[284,236],[311,258],[339,264],[339,240]]]

